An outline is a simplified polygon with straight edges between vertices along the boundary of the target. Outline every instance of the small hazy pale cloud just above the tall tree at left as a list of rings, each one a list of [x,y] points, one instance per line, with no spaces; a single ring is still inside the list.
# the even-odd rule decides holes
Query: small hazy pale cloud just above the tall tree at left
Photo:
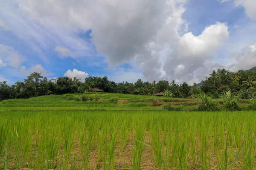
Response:
[[[27,69],[26,66],[21,66],[20,67],[20,72],[23,74],[23,75],[29,75],[31,73],[41,73],[42,76],[51,76],[53,75],[52,73],[48,72],[45,70],[45,68],[42,67],[41,64],[38,64],[38,65],[35,65],[35,66],[32,66],[31,68]]]

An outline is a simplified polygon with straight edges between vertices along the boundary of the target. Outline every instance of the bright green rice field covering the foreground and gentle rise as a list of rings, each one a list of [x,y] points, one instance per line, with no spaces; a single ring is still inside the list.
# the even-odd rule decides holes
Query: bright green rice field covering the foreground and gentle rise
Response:
[[[253,111],[175,112],[152,106],[151,96],[77,96],[1,102],[0,169],[256,169]]]

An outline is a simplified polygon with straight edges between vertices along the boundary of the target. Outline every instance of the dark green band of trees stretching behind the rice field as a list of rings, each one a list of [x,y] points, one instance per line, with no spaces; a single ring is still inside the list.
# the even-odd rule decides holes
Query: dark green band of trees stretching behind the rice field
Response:
[[[202,85],[190,86],[186,82],[176,84],[173,80],[168,82],[143,82],[138,79],[135,83],[113,82],[108,77],[87,77],[84,80],[69,77],[59,77],[48,80],[40,73],[30,74],[24,81],[15,82],[14,85],[7,85],[0,82],[0,101],[5,99],[20,99],[33,96],[52,95],[52,94],[74,94],[84,93],[90,88],[99,88],[108,93],[154,95],[157,93],[166,94],[174,97],[197,97],[204,93],[213,98],[218,98],[223,91],[237,91],[248,98],[255,93],[256,70],[238,71],[233,73],[225,69],[212,71],[209,77],[202,80]],[[169,95],[168,95],[169,94]]]

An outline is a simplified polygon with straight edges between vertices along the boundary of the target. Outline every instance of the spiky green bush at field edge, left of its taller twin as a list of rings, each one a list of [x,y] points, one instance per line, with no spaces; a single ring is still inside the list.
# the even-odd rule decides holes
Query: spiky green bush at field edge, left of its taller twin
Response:
[[[198,111],[219,111],[220,108],[218,104],[215,103],[210,96],[207,95],[200,95],[199,99],[203,104],[199,105],[197,110]]]

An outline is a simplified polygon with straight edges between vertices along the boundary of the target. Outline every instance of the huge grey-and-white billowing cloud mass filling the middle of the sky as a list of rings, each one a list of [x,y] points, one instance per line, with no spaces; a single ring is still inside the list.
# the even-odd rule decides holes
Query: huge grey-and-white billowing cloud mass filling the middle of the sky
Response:
[[[46,42],[51,45],[57,43],[55,46],[59,47],[58,52],[63,57],[72,57],[70,51],[85,51],[88,47],[88,43],[73,34],[74,30],[92,30],[92,43],[100,54],[107,57],[109,65],[135,60],[148,81],[175,79],[185,82],[204,78],[199,71],[209,68],[208,63],[211,63],[215,52],[229,37],[227,25],[218,22],[207,26],[199,36],[186,33],[188,25],[182,15],[187,1],[17,0],[16,13],[26,16],[23,17],[25,21],[18,17],[23,31],[25,28],[32,30],[26,36],[32,36],[31,39],[42,47],[47,46]],[[11,7],[14,9],[16,6]],[[8,24],[14,26],[11,21]],[[13,31],[22,35],[20,30]],[[66,74],[78,77],[73,76],[73,72],[69,70]]]

